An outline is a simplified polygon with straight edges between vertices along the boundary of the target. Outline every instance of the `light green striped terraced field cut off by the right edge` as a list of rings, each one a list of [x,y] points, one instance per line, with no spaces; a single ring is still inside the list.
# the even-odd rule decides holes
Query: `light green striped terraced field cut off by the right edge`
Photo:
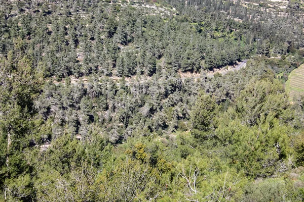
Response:
[[[293,70],[288,76],[286,90],[289,97],[304,95],[304,64]]]

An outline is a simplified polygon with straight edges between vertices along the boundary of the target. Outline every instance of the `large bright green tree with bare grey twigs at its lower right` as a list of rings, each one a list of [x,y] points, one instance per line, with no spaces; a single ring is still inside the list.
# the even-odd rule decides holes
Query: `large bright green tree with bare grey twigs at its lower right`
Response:
[[[227,158],[237,169],[253,177],[268,176],[288,170],[291,149],[287,132],[277,120],[253,128],[242,126],[240,120],[219,126],[216,134],[225,145]],[[285,161],[284,161],[285,160]]]

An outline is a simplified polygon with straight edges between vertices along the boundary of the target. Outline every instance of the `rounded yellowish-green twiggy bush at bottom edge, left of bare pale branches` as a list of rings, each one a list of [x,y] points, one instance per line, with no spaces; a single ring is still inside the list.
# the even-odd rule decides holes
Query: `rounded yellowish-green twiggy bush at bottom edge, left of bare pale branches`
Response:
[[[97,179],[105,186],[105,192],[100,193],[103,201],[142,201],[160,196],[163,185],[157,169],[130,159],[117,165],[106,181],[102,176]]]

